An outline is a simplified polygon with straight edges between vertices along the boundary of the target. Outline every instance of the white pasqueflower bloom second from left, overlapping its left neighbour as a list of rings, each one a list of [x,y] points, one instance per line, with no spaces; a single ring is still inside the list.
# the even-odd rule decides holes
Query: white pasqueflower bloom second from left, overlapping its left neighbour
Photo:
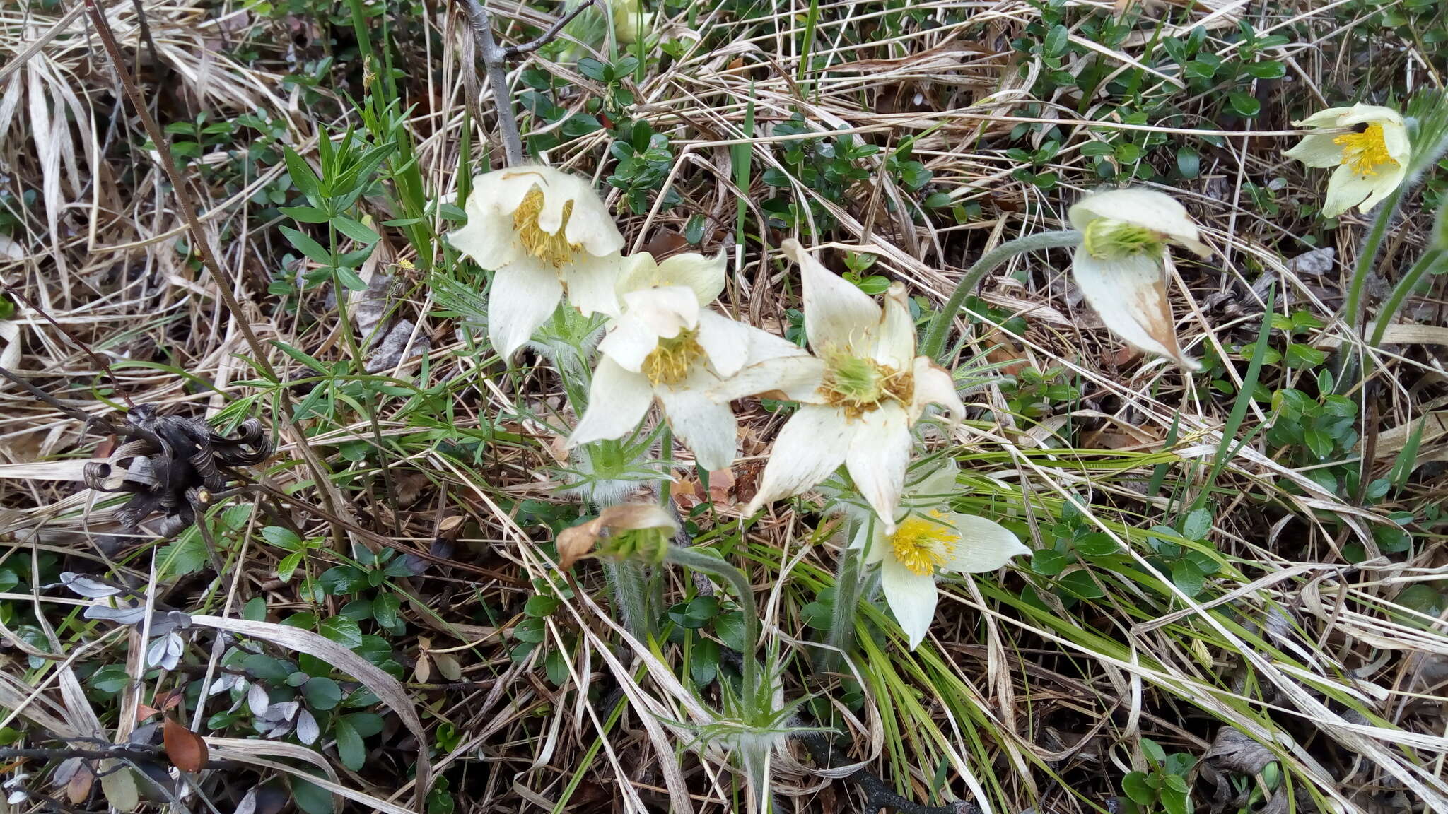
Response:
[[[727,401],[711,390],[747,364],[804,351],[772,333],[737,323],[707,306],[724,290],[724,255],[686,253],[654,262],[626,258],[618,281],[623,311],[598,343],[588,410],[569,446],[627,435],[654,401],[699,466],[734,462],[738,427]]]

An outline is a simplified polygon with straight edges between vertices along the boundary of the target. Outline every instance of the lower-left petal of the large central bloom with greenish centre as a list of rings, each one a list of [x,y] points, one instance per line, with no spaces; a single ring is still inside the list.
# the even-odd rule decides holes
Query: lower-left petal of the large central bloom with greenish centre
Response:
[[[844,463],[854,424],[834,407],[805,404],[785,421],[760,477],[749,513],[809,490]]]

